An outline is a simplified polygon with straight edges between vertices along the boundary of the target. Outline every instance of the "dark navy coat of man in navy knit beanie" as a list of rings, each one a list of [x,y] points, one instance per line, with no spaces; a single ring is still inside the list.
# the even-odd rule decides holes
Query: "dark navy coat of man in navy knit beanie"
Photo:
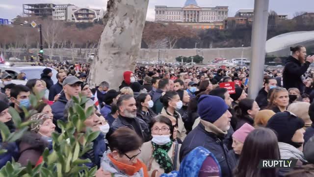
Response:
[[[199,123],[184,139],[180,149],[180,162],[194,148],[202,146],[214,154],[219,162],[222,177],[232,177],[232,170],[235,167],[228,149],[223,143],[222,137],[212,132],[207,132],[202,123]]]

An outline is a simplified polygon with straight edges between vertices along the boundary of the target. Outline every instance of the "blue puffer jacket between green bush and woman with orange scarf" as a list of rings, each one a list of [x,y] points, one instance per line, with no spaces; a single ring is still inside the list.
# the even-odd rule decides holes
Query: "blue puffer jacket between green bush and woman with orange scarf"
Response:
[[[88,153],[82,155],[82,159],[90,159],[91,163],[86,163],[85,165],[89,168],[97,166],[100,168],[100,160],[103,157],[104,152],[106,151],[105,136],[103,133],[100,133],[99,136],[93,141],[94,149],[94,159],[91,159],[91,156]]]

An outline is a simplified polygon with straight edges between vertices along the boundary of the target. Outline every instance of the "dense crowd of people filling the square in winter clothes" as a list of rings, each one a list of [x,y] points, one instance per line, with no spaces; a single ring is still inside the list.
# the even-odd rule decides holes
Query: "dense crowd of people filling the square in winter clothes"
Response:
[[[96,177],[310,177],[314,176],[314,57],[291,48],[284,69],[265,70],[256,99],[247,98],[246,67],[154,65],[125,71],[119,89],[110,81],[87,84],[89,64],[48,63],[52,70],[26,85],[1,73],[0,121],[15,131],[8,108],[22,121],[36,120],[19,140],[2,142],[0,168],[14,159],[22,166],[42,162],[52,149],[57,120],[69,119],[73,97],[85,96],[86,128],[102,133],[81,158],[97,166]],[[26,80],[27,75],[19,77]],[[219,83],[235,82],[235,93]],[[44,95],[33,108],[29,97]],[[26,117],[23,109],[36,109]],[[294,168],[258,168],[262,159],[296,159]]]

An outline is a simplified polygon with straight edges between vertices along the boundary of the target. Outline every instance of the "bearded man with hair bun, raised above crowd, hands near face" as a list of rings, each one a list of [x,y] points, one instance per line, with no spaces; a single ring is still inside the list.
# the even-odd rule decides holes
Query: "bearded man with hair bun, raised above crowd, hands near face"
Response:
[[[308,70],[314,61],[314,56],[306,56],[306,48],[304,46],[290,47],[292,55],[286,60],[283,73],[284,88],[297,88],[303,93],[304,84],[301,76]]]

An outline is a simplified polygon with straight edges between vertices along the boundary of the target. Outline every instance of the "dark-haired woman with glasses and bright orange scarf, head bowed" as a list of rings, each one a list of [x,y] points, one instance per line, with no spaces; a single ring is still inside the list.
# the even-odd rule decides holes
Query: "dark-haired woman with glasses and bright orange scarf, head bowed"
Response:
[[[149,177],[147,168],[138,159],[142,139],[127,127],[115,130],[108,138],[109,150],[104,153],[101,167],[111,177]]]

